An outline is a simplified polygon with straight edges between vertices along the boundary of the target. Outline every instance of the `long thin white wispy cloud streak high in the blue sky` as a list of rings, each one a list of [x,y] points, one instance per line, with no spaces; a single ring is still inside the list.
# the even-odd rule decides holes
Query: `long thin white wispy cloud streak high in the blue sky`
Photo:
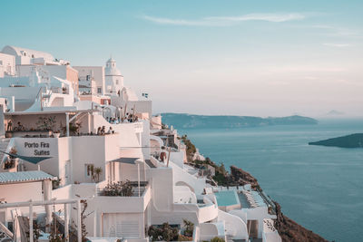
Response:
[[[142,16],[143,19],[156,24],[171,24],[184,26],[228,26],[245,21],[266,21],[281,23],[293,20],[302,20],[306,16],[298,13],[290,14],[250,14],[240,16],[211,16],[198,20],[172,19],[164,17]]]

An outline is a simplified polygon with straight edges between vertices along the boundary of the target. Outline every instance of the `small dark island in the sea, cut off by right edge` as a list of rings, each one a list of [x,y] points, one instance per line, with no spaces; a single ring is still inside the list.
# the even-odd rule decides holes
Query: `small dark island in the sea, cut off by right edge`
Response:
[[[340,148],[363,148],[363,133],[354,133],[338,138],[309,142],[309,145],[323,145]]]

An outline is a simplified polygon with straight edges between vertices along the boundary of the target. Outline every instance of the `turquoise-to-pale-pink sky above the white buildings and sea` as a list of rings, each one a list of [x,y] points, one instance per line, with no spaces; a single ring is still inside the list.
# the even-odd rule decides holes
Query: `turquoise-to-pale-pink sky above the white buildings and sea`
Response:
[[[153,111],[363,116],[363,1],[5,1],[0,48],[112,55]]]

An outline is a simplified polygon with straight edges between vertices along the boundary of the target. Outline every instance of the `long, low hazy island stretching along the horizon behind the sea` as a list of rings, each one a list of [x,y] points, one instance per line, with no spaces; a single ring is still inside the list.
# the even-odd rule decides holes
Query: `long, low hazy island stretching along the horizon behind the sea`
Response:
[[[293,115],[289,117],[260,118],[253,116],[194,115],[187,113],[162,113],[162,121],[183,129],[232,129],[243,127],[260,127],[269,125],[317,124],[309,117]]]

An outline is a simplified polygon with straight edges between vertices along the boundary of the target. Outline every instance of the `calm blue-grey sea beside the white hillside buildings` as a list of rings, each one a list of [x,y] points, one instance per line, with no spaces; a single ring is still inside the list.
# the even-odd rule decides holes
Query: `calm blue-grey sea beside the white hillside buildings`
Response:
[[[363,121],[179,132],[211,160],[249,171],[302,226],[329,240],[363,241],[363,149],[308,145],[363,132]]]

